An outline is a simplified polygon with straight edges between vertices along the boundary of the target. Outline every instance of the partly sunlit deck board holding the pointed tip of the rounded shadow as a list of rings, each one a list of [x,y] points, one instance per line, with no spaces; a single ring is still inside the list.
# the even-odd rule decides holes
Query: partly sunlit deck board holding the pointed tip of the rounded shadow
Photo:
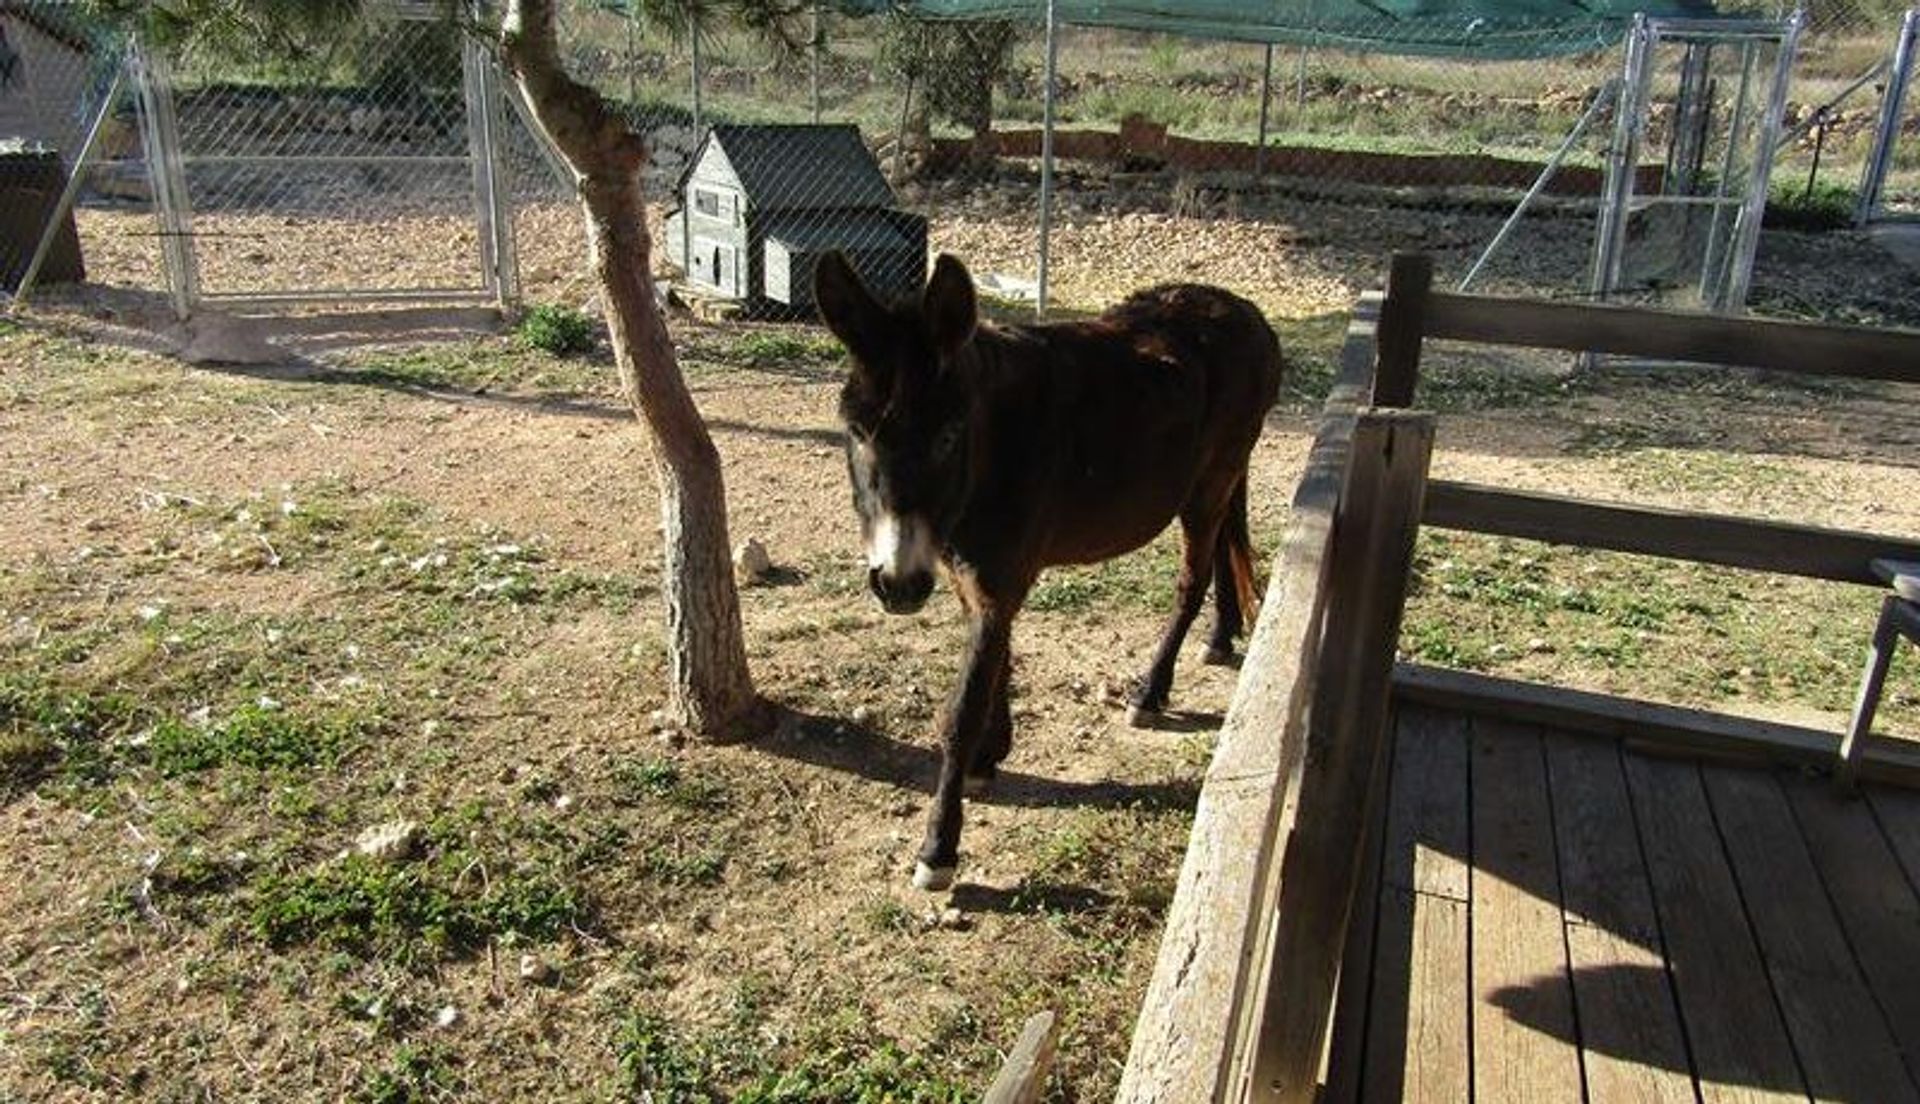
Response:
[[[1473,718],[1473,1098],[1580,1100],[1540,732]]]

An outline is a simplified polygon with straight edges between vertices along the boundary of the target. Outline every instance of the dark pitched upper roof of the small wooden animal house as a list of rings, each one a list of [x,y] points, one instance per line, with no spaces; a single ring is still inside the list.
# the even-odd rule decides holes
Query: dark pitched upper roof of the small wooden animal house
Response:
[[[680,180],[718,148],[755,211],[891,207],[893,188],[851,125],[720,125]]]

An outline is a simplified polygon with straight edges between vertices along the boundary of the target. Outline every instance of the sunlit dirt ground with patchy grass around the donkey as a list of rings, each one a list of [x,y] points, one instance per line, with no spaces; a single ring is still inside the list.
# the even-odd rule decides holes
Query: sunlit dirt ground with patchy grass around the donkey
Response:
[[[987,271],[1006,217],[937,244]],[[1208,255],[1246,265],[1236,280],[1294,349],[1254,457],[1271,549],[1338,311],[1402,228],[1329,253],[1267,223],[1229,250],[1219,223],[1169,219],[1077,238],[1062,294],[1098,298],[1121,278],[1102,257],[1156,240],[1187,275]],[[528,248],[538,294],[588,301],[564,242],[526,240],[553,252]],[[733,538],[778,566],[743,603],[787,720],[716,749],[651,720],[657,501],[605,361],[307,324],[284,365],[188,367],[136,348],[169,346],[142,328],[154,317],[152,300],[92,296],[0,332],[0,720],[54,749],[21,753],[31,772],[0,791],[0,1100],[958,1100],[1041,1008],[1066,1025],[1050,1098],[1112,1092],[1233,693],[1190,639],[1187,732],[1123,724],[1171,586],[1165,541],[1050,582],[1023,616],[1010,776],[970,810],[962,885],[916,893],[929,730],[964,626],[947,599],[889,618],[864,593],[841,365],[816,332],[676,323]],[[1427,397],[1450,478],[1920,534],[1920,430],[1885,388],[1569,380],[1442,351]],[[1409,655],[1828,726],[1845,708],[1872,595],[1809,616],[1805,588],[1741,584],[1730,603],[1703,597],[1720,586],[1705,576],[1661,576],[1672,612],[1615,622],[1613,595],[1645,588],[1592,559],[1559,566],[1601,622],[1569,622],[1594,603],[1486,586],[1536,559],[1427,547]],[[1475,574],[1457,595],[1455,568]],[[1519,620],[1480,626],[1501,609]],[[1528,639],[1553,630],[1557,649]],[[1693,664],[1711,670],[1667,674]],[[108,699],[127,718],[86,720]],[[344,716],[348,735],[267,764],[156,751],[180,718],[209,732],[202,710],[217,730],[261,701]],[[1889,718],[1916,710],[1903,676]],[[83,739],[104,747],[84,772]],[[401,818],[426,826],[417,889],[459,910],[559,879],[564,922],[522,908],[461,937],[374,908],[348,912],[392,920],[392,943],[326,935],[330,906],[371,893],[338,881],[363,866],[342,854]],[[288,885],[311,891],[298,922]]]

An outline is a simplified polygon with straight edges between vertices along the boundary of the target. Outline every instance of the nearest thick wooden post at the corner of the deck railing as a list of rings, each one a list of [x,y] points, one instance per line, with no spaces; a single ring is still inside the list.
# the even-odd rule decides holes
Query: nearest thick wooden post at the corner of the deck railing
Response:
[[[1306,755],[1292,758],[1286,780],[1279,906],[1240,1050],[1248,1100],[1308,1104],[1315,1096],[1369,799],[1386,747],[1394,645],[1432,438],[1432,417],[1411,411],[1363,411],[1354,428],[1354,467],[1334,528],[1338,555],[1321,682]]]

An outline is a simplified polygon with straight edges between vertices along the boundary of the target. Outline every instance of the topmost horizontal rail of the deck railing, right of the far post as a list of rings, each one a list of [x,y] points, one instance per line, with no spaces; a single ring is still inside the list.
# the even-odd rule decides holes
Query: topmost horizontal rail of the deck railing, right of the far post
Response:
[[[1428,338],[1534,346],[1774,369],[1862,380],[1920,380],[1920,332],[1594,303],[1546,303],[1434,292]]]

